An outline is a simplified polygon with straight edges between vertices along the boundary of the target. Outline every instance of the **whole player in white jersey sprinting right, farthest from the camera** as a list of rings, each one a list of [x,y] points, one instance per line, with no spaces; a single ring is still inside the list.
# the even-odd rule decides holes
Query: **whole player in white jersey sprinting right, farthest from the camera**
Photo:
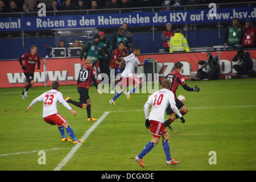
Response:
[[[133,75],[134,67],[137,65],[138,67],[141,67],[145,64],[148,64],[148,60],[144,60],[143,63],[139,62],[138,56],[141,54],[141,48],[138,46],[135,46],[133,48],[133,53],[131,53],[129,56],[123,58],[121,60],[121,63],[119,64],[119,67],[117,69],[117,73],[121,73],[121,68],[123,64],[126,62],[125,70],[121,74],[121,88],[117,91],[115,96],[112,98],[112,100],[109,101],[110,104],[115,106],[115,100],[127,89],[127,86],[129,84],[133,85],[134,88],[131,89],[127,94],[127,100],[131,100],[131,94],[142,88],[142,80],[141,78],[135,77]]]

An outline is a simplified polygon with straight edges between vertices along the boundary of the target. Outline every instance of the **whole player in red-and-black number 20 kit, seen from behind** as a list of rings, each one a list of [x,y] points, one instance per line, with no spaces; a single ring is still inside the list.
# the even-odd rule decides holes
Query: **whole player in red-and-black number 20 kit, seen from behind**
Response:
[[[90,108],[92,107],[92,100],[90,100],[89,97],[89,87],[90,84],[94,83],[96,89],[98,90],[98,93],[101,94],[101,90],[98,89],[98,84],[97,84],[97,80],[95,78],[95,70],[93,69],[92,65],[93,65],[93,61],[91,58],[87,58],[85,60],[85,66],[82,67],[82,69],[80,69],[79,72],[79,78],[77,80],[77,91],[80,94],[80,102],[77,101],[73,101],[71,100],[70,97],[65,98],[65,101],[80,107],[81,109],[85,109],[87,111],[87,121],[96,121],[97,119],[92,118],[90,115]]]

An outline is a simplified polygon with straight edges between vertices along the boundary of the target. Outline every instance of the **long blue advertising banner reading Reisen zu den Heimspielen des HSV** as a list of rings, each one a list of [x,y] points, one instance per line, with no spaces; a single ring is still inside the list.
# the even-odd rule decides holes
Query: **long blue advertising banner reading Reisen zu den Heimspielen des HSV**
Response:
[[[193,23],[232,22],[245,19],[256,20],[256,7],[233,7],[216,9],[212,16],[212,9],[151,11],[113,14],[76,14],[57,16],[23,16],[0,18],[0,31],[39,31],[58,28],[105,28],[119,27],[123,22],[132,26],[152,26]]]

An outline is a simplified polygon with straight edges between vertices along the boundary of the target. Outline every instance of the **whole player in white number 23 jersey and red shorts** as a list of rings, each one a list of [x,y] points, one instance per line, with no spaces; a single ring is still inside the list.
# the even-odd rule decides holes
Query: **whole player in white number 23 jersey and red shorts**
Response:
[[[67,122],[67,120],[63,118],[57,111],[57,104],[58,102],[60,102],[60,104],[67,107],[67,109],[70,110],[74,116],[76,116],[76,111],[73,110],[71,106],[68,105],[68,103],[64,100],[62,93],[59,92],[59,86],[60,86],[59,82],[53,81],[52,90],[44,92],[41,96],[36,97],[31,102],[31,104],[27,107],[27,111],[30,111],[32,105],[36,104],[36,102],[43,101],[44,121],[49,123],[50,125],[57,125],[59,127],[59,131],[62,137],[61,140],[63,142],[73,141],[73,143],[84,142],[76,138],[75,133],[72,130],[69,123]],[[72,138],[72,140],[66,137],[64,128],[66,129],[67,133]]]

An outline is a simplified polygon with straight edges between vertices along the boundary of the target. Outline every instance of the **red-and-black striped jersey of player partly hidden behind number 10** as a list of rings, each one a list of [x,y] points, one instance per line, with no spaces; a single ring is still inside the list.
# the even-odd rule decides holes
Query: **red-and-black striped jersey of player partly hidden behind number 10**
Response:
[[[181,75],[181,73],[176,71],[176,70],[174,70],[173,72],[169,73],[166,76],[166,78],[168,78],[171,81],[171,88],[170,88],[170,90],[174,93],[175,98],[176,98],[176,90],[177,90],[177,87],[179,85],[183,86],[183,88],[185,90],[193,91],[193,88],[190,88],[185,83],[185,79],[184,79],[183,75]]]

